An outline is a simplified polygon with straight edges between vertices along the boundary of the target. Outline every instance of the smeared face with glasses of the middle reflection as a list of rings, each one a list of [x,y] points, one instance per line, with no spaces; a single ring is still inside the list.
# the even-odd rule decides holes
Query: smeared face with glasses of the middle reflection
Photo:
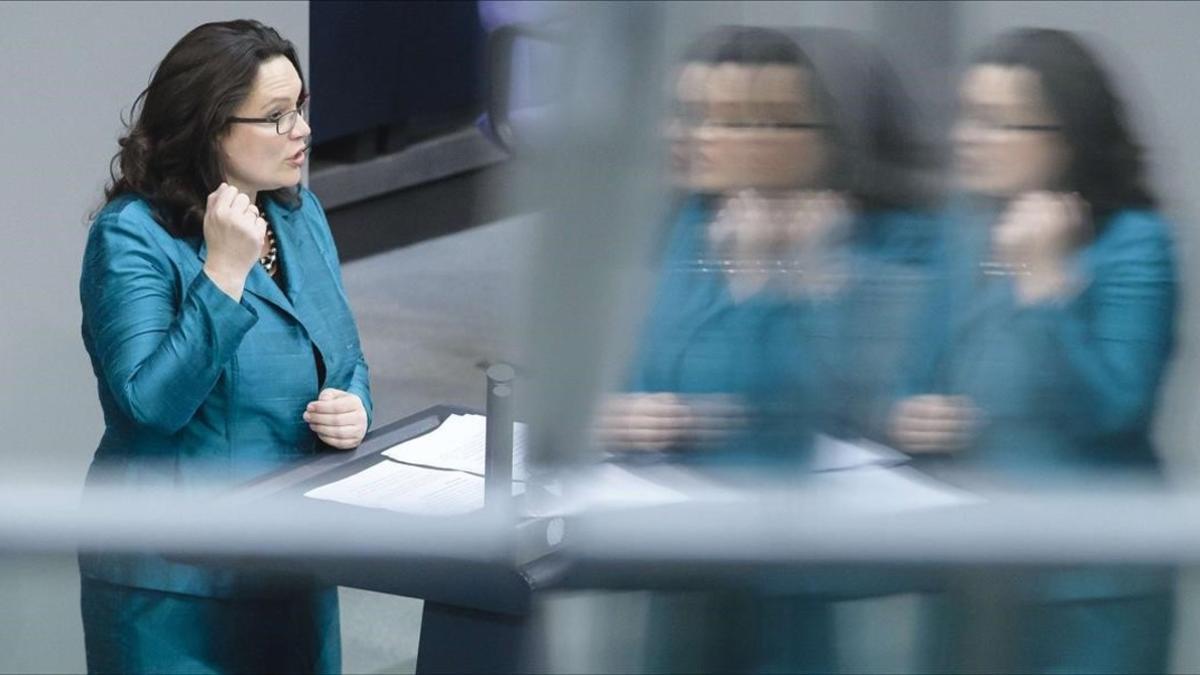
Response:
[[[676,86],[676,180],[698,192],[818,186],[829,150],[809,78],[782,64],[688,64]]]

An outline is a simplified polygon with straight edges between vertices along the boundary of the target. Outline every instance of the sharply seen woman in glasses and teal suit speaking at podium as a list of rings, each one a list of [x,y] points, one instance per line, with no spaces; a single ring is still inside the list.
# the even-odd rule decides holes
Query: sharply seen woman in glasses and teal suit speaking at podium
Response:
[[[185,35],[134,102],[80,279],[97,486],[180,496],[356,447],[371,390],[329,223],[300,186],[307,89],[252,20]],[[337,592],[82,551],[88,669],[336,671]]]

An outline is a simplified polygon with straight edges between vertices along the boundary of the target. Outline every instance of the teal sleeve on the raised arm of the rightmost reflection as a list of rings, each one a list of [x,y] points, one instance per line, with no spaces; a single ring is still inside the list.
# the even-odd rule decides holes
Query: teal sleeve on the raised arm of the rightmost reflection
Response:
[[[1024,340],[1042,353],[1061,423],[1088,437],[1136,434],[1150,424],[1174,346],[1176,287],[1165,223],[1124,215],[1112,239],[1081,261],[1085,293],[1018,312]],[[1052,384],[1052,387],[1051,387]]]

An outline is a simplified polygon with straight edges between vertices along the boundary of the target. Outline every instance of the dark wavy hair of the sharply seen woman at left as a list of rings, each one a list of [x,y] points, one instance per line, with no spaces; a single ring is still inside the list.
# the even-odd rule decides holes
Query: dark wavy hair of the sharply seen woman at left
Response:
[[[304,100],[307,88],[295,46],[270,26],[208,23],[180,38],[133,101],[133,121],[126,123],[121,149],[109,162],[104,201],[137,193],[173,235],[202,235],[208,196],[224,180],[220,141],[250,96],[259,65],[276,56],[295,66]],[[300,204],[295,186],[264,196],[289,208]]]

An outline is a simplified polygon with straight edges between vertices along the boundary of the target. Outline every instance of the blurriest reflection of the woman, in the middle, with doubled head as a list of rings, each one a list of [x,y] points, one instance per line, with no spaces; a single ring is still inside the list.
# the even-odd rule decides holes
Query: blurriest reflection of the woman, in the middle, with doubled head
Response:
[[[935,235],[896,84],[838,31],[726,26],[689,50],[668,126],[682,196],[629,393],[598,419],[610,449],[798,485],[818,431],[883,434],[922,297],[900,271],[928,267]],[[834,671],[830,601],[886,592],[864,580],[659,601],[652,669]]]

